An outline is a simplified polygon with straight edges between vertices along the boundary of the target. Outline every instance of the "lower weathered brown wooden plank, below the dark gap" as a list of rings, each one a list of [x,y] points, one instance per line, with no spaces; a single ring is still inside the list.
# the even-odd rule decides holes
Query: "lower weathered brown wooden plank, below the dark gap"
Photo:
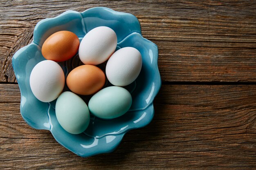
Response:
[[[25,123],[18,85],[0,84],[0,94],[0,168],[256,169],[256,85],[163,85],[148,126],[88,158]]]

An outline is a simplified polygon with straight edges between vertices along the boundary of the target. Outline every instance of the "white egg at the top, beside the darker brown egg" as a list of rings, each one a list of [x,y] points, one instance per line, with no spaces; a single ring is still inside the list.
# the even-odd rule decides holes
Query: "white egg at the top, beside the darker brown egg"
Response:
[[[117,47],[117,35],[107,26],[89,31],[79,46],[79,58],[83,64],[98,65],[110,57]]]

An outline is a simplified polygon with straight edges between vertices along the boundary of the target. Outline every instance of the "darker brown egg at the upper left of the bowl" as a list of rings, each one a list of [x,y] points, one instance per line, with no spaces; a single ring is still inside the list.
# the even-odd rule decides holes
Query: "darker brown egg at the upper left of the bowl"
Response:
[[[58,31],[49,36],[42,46],[42,54],[47,60],[63,62],[72,58],[79,48],[79,39],[70,31]]]

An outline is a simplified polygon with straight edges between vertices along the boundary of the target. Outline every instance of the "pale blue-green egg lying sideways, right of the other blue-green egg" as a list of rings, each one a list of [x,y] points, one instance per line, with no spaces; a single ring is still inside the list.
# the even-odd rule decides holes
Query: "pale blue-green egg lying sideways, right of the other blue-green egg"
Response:
[[[123,87],[110,86],[92,96],[90,112],[102,119],[113,119],[124,115],[132,105],[132,96]]]

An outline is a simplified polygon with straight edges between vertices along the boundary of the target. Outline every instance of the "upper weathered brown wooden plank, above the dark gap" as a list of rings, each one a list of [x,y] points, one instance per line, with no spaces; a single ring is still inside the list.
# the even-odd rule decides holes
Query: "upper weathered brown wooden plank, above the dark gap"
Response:
[[[159,48],[163,81],[256,81],[254,1],[2,0],[0,82],[16,82],[11,58],[31,42],[38,21],[97,6],[137,16]]]

